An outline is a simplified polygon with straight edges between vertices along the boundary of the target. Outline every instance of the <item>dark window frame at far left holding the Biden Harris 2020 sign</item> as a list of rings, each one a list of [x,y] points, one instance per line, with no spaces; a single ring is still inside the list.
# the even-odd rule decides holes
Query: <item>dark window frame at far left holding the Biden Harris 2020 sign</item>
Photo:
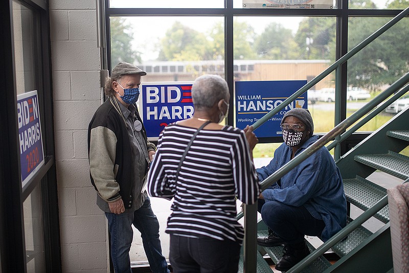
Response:
[[[36,43],[35,81],[40,105],[41,131],[45,164],[21,187],[19,138],[16,106],[15,52],[13,39],[13,1],[2,1],[0,18],[4,34],[0,58],[0,82],[4,99],[0,102],[1,159],[0,215],[7,221],[0,223],[0,260],[2,272],[26,272],[27,255],[24,230],[23,203],[41,185],[44,258],[47,272],[61,271],[58,193],[55,166],[54,116],[52,95],[50,16],[47,0],[16,0],[34,13]]]

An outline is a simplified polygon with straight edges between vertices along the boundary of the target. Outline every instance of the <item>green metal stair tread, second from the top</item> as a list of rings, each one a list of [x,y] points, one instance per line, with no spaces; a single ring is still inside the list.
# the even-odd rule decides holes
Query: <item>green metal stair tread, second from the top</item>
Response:
[[[354,160],[403,180],[409,177],[409,157],[392,151],[388,154],[357,155]]]

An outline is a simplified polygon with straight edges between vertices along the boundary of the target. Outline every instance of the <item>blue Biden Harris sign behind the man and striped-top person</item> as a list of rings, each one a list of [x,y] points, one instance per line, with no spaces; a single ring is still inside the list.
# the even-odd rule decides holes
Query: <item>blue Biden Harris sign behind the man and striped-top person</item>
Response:
[[[140,113],[149,140],[157,140],[168,124],[193,117],[192,85],[193,81],[141,85]]]

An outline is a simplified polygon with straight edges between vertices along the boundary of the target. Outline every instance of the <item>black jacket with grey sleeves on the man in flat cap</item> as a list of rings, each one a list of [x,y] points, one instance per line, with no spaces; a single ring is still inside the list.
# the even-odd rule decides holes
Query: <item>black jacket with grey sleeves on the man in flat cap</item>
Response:
[[[134,118],[142,123],[138,111],[135,112]],[[155,145],[147,141],[143,123],[142,132],[147,150],[154,151]],[[108,203],[122,197],[125,208],[132,205],[135,183],[130,172],[130,145],[125,122],[110,99],[107,99],[95,112],[88,126],[90,178],[99,197]]]

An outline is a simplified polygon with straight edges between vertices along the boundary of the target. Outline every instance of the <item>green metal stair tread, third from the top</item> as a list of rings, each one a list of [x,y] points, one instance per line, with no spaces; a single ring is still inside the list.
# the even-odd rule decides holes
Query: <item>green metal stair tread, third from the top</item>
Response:
[[[366,211],[387,195],[387,190],[371,181],[357,176],[344,179],[344,191],[347,201]],[[374,217],[383,223],[389,222],[389,206],[383,207]]]

